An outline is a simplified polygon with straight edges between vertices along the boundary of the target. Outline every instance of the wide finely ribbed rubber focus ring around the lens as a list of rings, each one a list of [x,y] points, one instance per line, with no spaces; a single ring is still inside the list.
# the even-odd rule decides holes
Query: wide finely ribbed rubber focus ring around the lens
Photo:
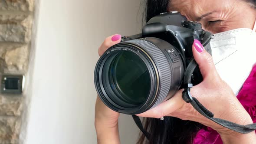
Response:
[[[157,66],[159,73],[159,95],[157,100],[154,102],[154,105],[151,107],[154,108],[164,101],[170,90],[172,80],[170,64],[161,49],[159,49],[153,43],[144,39],[134,39],[127,42],[144,48],[148,54],[150,54],[151,58],[154,60],[155,65]]]

